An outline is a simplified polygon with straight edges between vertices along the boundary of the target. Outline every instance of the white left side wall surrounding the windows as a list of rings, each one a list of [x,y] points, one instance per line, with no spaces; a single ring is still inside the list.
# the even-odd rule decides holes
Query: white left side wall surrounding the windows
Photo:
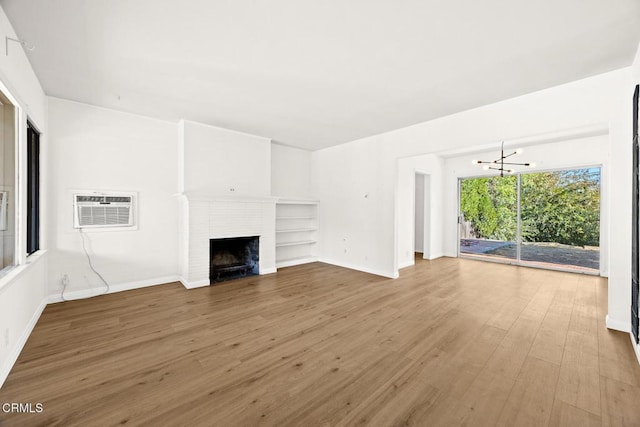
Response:
[[[1,33],[9,37],[17,37],[4,11],[0,9]],[[0,86],[4,86],[8,94],[14,98],[19,107],[19,135],[20,149],[26,153],[24,137],[26,135],[27,116],[42,132],[41,148],[47,150],[47,99],[42,87],[31,69],[29,60],[23,50],[12,46],[9,55],[0,55]],[[24,168],[24,163],[19,165]],[[46,172],[46,162],[41,163],[41,172]],[[24,198],[24,182],[19,190],[19,235],[23,237],[19,242],[20,253],[17,259],[22,265],[14,268],[7,275],[0,278],[0,386],[6,379],[13,363],[17,359],[31,329],[35,325],[40,313],[45,307],[46,239],[42,239],[38,254],[25,259],[24,249],[24,219],[26,200]],[[46,194],[46,182],[42,183],[41,191]],[[41,230],[46,229],[46,207],[42,209]]]

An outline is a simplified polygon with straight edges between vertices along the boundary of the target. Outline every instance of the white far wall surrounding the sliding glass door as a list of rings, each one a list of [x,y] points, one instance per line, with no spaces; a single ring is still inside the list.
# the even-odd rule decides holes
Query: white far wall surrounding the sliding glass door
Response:
[[[604,131],[604,130],[602,130]],[[602,132],[601,131],[601,132]],[[600,133],[601,133],[600,132]],[[512,148],[512,147],[509,147]],[[513,148],[522,148],[515,143]],[[506,147],[505,147],[506,149]],[[499,157],[500,146],[493,150],[447,158],[445,161],[445,199],[444,199],[444,253],[447,256],[458,255],[458,178],[473,176],[495,176],[479,165],[472,164],[473,159],[494,159]],[[607,276],[609,272],[609,136],[607,134],[590,137],[577,137],[562,142],[541,143],[524,148],[523,154],[514,157],[515,162],[535,163],[533,169],[516,167],[519,172],[547,171],[584,166],[602,166],[601,176],[601,217],[600,217],[600,272]]]

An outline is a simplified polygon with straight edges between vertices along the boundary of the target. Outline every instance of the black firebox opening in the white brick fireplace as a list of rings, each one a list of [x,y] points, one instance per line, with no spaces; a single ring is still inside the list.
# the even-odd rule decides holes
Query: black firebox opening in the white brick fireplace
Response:
[[[210,239],[210,284],[260,274],[259,248],[258,236]]]

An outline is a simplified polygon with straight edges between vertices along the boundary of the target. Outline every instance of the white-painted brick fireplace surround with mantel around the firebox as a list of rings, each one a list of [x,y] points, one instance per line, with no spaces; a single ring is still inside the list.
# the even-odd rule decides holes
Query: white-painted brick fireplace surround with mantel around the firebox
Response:
[[[275,197],[180,193],[180,271],[186,288],[209,285],[209,240],[259,236],[260,274],[276,271]]]

